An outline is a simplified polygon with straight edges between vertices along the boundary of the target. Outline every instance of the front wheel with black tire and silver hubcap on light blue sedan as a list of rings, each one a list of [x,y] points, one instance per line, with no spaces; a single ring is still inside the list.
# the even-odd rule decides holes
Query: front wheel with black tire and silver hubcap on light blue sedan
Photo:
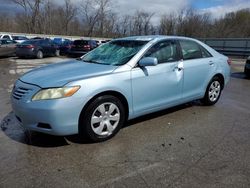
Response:
[[[125,109],[121,101],[111,95],[96,98],[80,116],[79,134],[94,142],[115,136],[125,122]]]

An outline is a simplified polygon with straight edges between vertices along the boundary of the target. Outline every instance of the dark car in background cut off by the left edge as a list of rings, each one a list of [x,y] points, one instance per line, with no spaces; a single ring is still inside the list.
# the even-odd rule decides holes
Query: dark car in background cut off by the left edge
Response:
[[[15,54],[16,42],[9,39],[0,39],[0,56],[11,56]]]

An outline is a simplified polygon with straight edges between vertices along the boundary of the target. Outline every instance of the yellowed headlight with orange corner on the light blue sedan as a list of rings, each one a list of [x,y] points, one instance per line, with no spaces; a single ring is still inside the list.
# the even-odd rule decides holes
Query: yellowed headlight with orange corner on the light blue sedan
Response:
[[[79,89],[80,86],[42,89],[32,97],[32,101],[70,97]]]

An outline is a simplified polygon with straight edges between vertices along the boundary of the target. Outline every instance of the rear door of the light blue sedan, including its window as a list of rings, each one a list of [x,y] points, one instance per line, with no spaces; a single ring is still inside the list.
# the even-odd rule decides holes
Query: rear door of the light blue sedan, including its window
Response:
[[[180,40],[183,55],[183,99],[188,101],[203,97],[206,84],[215,69],[212,55],[192,40]]]

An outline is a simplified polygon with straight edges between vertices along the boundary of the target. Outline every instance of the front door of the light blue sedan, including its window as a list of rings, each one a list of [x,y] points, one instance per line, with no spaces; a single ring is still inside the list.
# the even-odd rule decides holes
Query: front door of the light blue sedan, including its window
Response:
[[[182,98],[183,70],[178,68],[182,62],[176,42],[158,42],[144,57],[157,58],[158,65],[132,69],[133,107],[137,115],[180,103]]]

